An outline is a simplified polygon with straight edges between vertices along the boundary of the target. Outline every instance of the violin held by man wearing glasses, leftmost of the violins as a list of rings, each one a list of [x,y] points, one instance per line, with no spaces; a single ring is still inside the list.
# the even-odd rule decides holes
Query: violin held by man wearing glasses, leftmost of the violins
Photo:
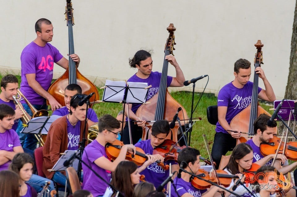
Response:
[[[124,143],[119,140],[115,140],[112,144],[107,143],[105,146],[105,151],[108,158],[110,158],[111,160],[115,160],[120,154],[122,146],[124,146]],[[142,165],[147,159],[149,158],[145,155],[145,152],[139,147],[136,147],[135,155],[132,155],[128,152],[126,154],[126,160],[132,161],[138,166]],[[162,163],[159,160],[157,160],[156,162],[157,165],[161,166],[162,169],[169,169],[169,165],[164,165],[164,163]]]

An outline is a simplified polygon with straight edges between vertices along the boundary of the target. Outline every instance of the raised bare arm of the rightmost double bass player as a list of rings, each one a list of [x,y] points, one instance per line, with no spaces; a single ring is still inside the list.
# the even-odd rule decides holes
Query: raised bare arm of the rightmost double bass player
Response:
[[[259,98],[270,102],[274,101],[276,99],[275,94],[273,92],[272,86],[270,85],[269,81],[267,80],[264,74],[263,69],[261,67],[257,67],[255,71],[259,74],[259,77],[263,80],[265,86],[265,90],[262,89],[258,94]]]

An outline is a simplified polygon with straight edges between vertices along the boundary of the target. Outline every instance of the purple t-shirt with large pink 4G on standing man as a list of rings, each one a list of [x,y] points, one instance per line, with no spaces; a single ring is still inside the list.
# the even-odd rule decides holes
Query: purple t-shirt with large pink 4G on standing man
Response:
[[[26,74],[36,74],[36,81],[44,90],[48,90],[53,79],[54,63],[61,60],[63,56],[58,49],[49,43],[38,46],[31,42],[21,54],[21,85],[20,91],[35,105],[45,104],[45,98],[37,94],[28,84]],[[21,101],[25,103],[25,101]]]

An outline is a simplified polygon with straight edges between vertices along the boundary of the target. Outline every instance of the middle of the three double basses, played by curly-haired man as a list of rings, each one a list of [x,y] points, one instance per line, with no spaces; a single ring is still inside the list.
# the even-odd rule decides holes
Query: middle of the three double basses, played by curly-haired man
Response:
[[[182,112],[179,112],[179,118],[181,120],[186,119],[183,118],[187,116],[186,110],[183,108],[181,104],[179,104],[172,96],[169,94],[167,90],[167,73],[168,73],[168,60],[165,59],[166,55],[173,55],[173,50],[175,41],[174,41],[174,25],[170,23],[167,28],[169,32],[169,37],[167,38],[165,45],[165,55],[164,62],[162,68],[161,82],[160,88],[157,94],[153,96],[153,98],[147,101],[148,104],[141,105],[136,111],[136,116],[140,117],[142,120],[172,120],[173,116],[176,113],[176,110],[181,107]],[[148,84],[149,85],[149,84]],[[154,110],[155,109],[155,110]],[[142,140],[146,140],[150,138],[149,129],[151,127],[146,126],[143,129]],[[179,130],[179,124],[176,123],[175,127],[171,129],[171,132],[168,134],[167,139],[171,139],[174,142],[177,142],[178,135],[181,135],[181,131]]]

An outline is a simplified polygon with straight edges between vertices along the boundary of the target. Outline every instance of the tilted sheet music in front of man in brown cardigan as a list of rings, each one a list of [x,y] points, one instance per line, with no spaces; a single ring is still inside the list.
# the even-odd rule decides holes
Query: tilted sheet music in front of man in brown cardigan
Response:
[[[65,167],[63,164],[64,164],[64,161],[66,161],[67,159],[69,159],[73,154],[75,154],[75,150],[66,150],[63,155],[61,155],[61,157],[59,158],[59,160],[57,161],[57,163],[54,164],[54,167],[53,169],[50,169],[48,170],[49,172],[54,172],[54,171],[63,171],[63,170],[66,170],[66,168],[68,167],[73,167],[76,171],[78,169],[78,163],[79,163],[79,160],[74,158],[73,162],[71,165]],[[80,152],[80,151],[79,151]],[[77,152],[77,155],[79,155],[79,153]]]

